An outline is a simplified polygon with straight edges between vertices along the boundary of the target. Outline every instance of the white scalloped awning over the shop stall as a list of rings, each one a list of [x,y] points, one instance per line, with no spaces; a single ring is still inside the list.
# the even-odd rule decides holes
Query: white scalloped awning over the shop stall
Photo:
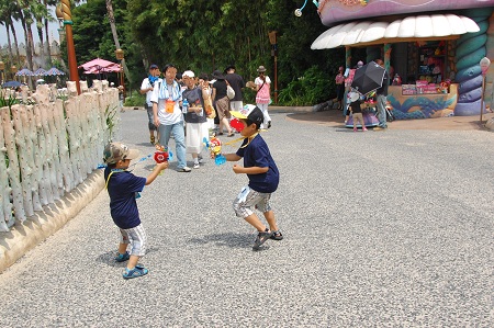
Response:
[[[479,31],[473,20],[456,14],[407,16],[392,22],[356,21],[330,27],[313,42],[311,49],[450,39]]]

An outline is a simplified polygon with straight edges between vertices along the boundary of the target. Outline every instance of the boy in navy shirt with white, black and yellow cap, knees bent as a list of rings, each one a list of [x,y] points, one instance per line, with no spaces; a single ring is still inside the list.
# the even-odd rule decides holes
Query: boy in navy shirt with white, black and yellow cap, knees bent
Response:
[[[258,230],[252,249],[259,250],[260,246],[270,238],[283,239],[269,203],[271,194],[278,189],[280,173],[268,145],[259,135],[259,128],[265,121],[262,111],[258,106],[246,105],[243,111],[231,113],[243,122],[244,128],[240,134],[245,139],[237,152],[224,156],[228,161],[238,161],[244,158],[244,167],[234,165],[233,170],[236,174],[245,173],[249,178],[249,184],[243,188],[233,207],[238,217],[243,217]],[[261,223],[254,208],[262,212],[269,228]]]

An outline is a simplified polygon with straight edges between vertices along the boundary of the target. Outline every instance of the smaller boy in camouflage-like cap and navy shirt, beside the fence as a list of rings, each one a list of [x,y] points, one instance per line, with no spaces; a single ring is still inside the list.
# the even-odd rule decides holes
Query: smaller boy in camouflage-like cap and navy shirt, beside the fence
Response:
[[[110,212],[122,235],[115,261],[128,260],[123,273],[124,279],[148,273],[146,268],[137,264],[138,259],[146,252],[146,231],[141,224],[136,199],[144,185],[150,184],[159,172],[168,168],[168,161],[165,161],[156,165],[147,178],[136,177],[127,169],[131,160],[138,156],[137,149],[130,149],[121,143],[108,144],[103,151],[103,160],[108,165],[104,170],[104,180],[110,195]],[[127,251],[128,245],[131,245],[131,252]]]

